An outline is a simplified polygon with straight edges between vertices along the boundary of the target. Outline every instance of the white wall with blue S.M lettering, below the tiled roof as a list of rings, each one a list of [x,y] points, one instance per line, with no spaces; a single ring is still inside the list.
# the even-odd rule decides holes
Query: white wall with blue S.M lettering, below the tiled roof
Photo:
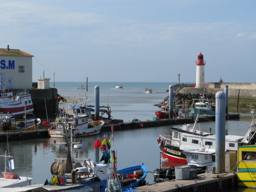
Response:
[[[19,66],[24,66],[24,73],[19,73]],[[0,70],[5,89],[32,89],[32,57],[0,55]]]

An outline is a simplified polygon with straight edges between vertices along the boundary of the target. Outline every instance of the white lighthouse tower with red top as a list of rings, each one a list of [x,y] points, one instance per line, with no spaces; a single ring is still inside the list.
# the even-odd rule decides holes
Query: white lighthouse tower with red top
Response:
[[[196,61],[196,88],[204,88],[204,55],[200,52]]]

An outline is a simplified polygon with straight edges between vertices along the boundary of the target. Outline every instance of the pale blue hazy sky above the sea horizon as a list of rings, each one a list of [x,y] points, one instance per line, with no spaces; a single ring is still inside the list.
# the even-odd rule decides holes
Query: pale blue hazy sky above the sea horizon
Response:
[[[0,48],[34,55],[33,82],[255,82],[254,0],[3,1]]]

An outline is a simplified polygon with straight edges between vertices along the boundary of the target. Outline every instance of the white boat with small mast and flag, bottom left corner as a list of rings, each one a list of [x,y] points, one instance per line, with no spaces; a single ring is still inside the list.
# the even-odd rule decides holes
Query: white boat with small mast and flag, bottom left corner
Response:
[[[0,178],[0,188],[6,187],[21,187],[31,185],[31,180],[33,178],[30,177],[19,177],[19,175],[15,172],[7,172],[6,162],[9,162],[9,170],[14,170],[14,161],[13,157],[8,155],[7,151],[5,151],[5,155],[0,155],[1,157],[5,157],[5,166],[4,172],[2,172],[3,177]]]

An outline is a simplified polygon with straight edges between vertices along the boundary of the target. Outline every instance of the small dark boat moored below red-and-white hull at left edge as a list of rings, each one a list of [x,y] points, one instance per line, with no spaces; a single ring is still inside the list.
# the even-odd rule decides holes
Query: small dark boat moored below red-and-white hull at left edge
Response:
[[[0,132],[18,132],[36,130],[41,119],[33,118],[24,121],[15,122],[15,117],[12,114],[0,114]]]

